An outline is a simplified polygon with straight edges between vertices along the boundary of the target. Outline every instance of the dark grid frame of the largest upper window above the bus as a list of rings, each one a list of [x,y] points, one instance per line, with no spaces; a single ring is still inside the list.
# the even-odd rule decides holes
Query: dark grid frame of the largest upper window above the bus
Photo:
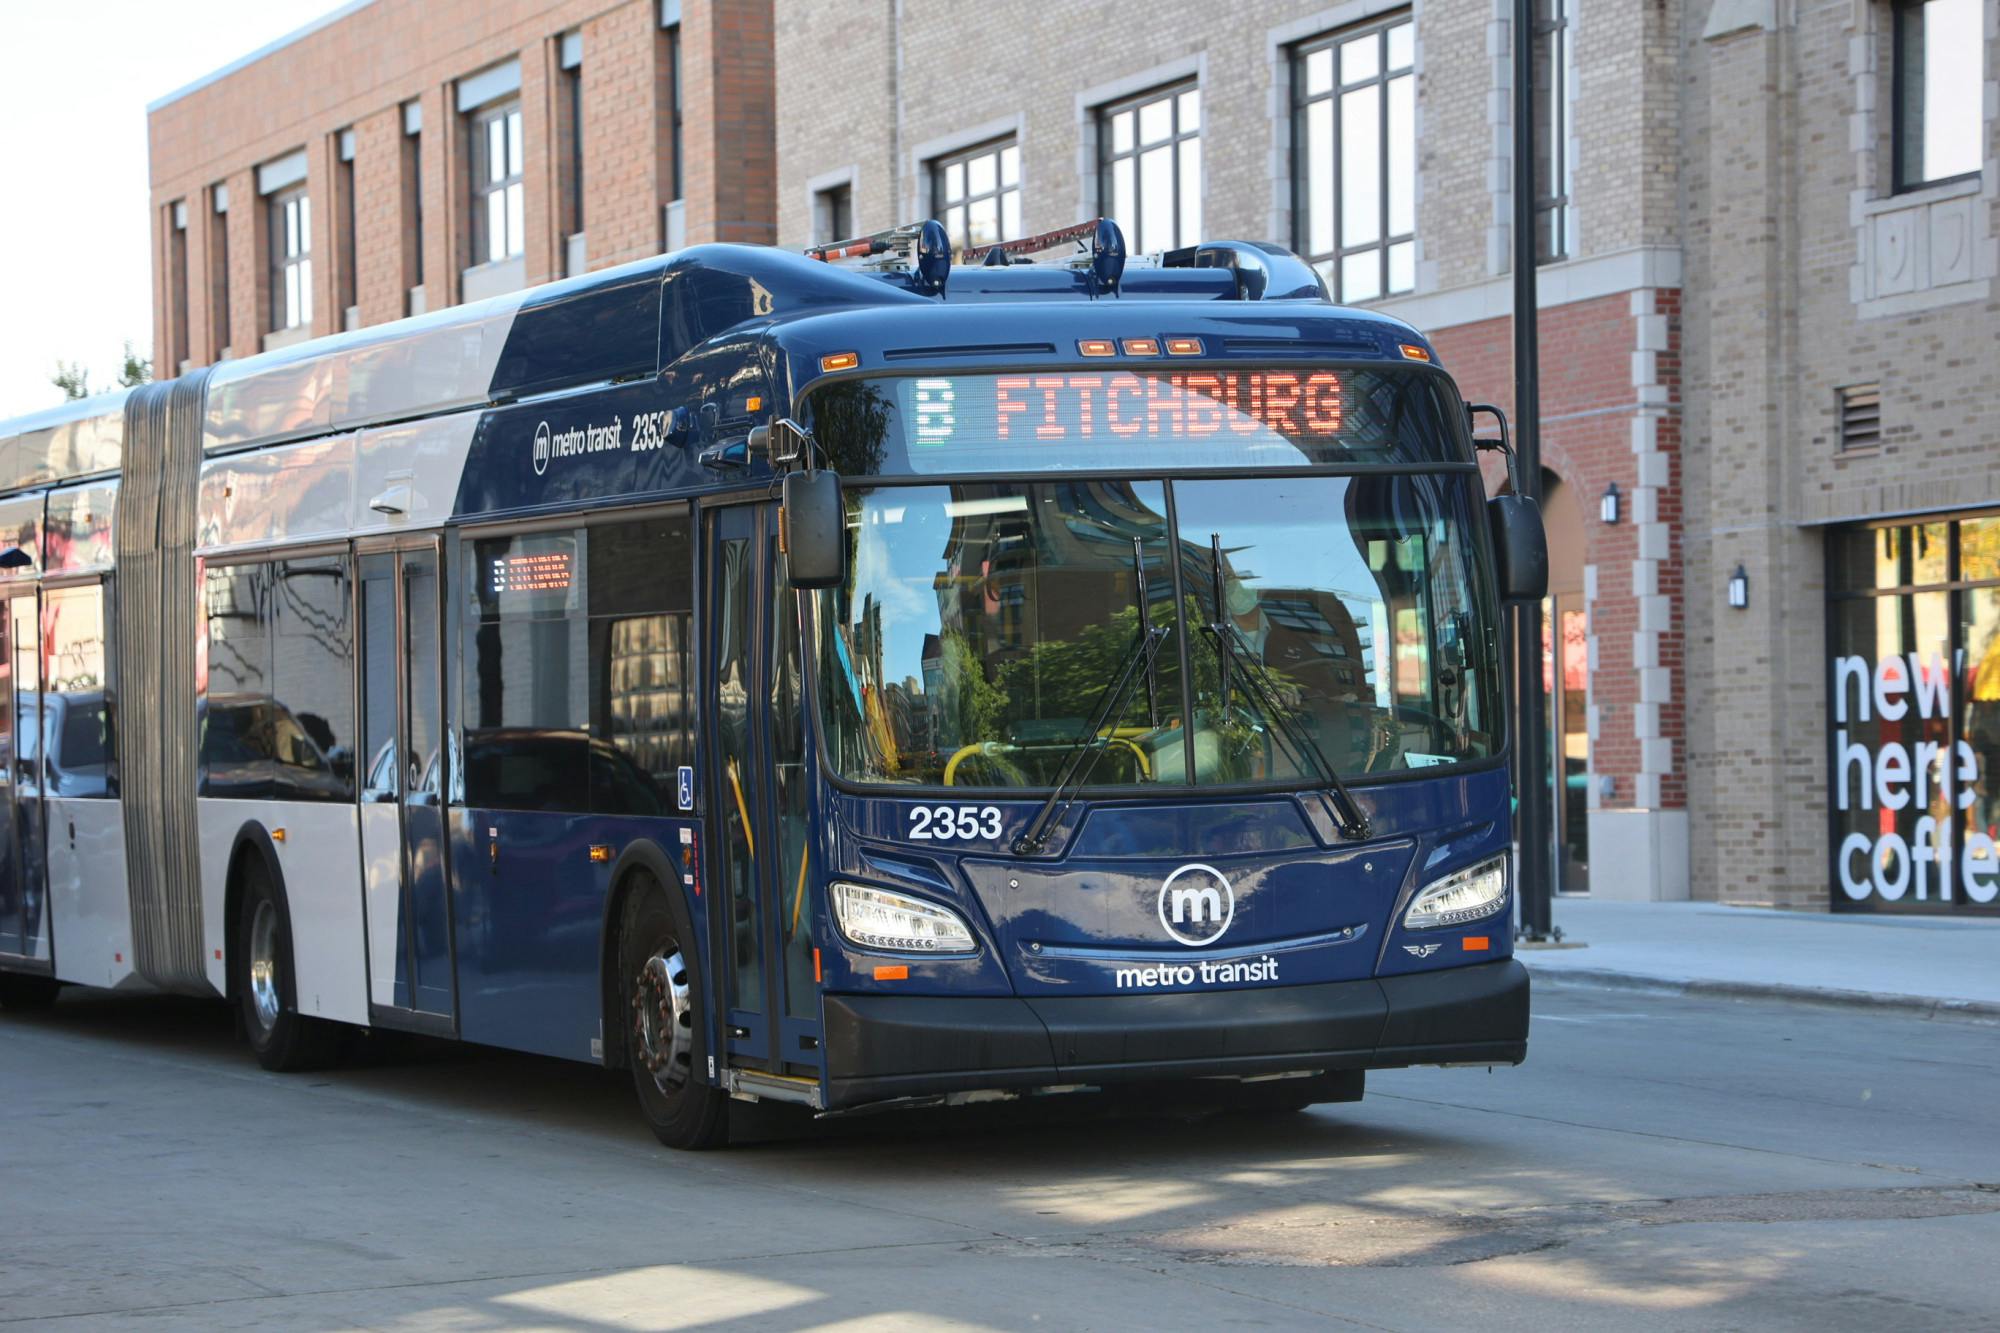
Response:
[[[1392,66],[1388,58],[1388,32],[1410,24],[1410,64]],[[1378,64],[1372,78],[1362,78],[1352,84],[1340,82],[1340,52],[1350,42],[1370,40],[1378,46]],[[1326,92],[1308,92],[1308,60],[1322,52],[1332,52],[1334,74]],[[1396,10],[1392,14],[1380,14],[1360,24],[1348,28],[1338,28],[1322,36],[1300,42],[1292,48],[1292,248],[1320,270],[1326,278],[1326,286],[1334,292],[1334,300],[1348,300],[1346,284],[1342,280],[1342,268],[1346,260],[1354,254],[1366,254],[1376,250],[1380,254],[1376,264],[1376,292],[1372,296],[1362,296],[1356,300],[1384,300],[1390,296],[1406,296],[1416,290],[1416,154],[1410,154],[1410,230],[1392,232],[1390,230],[1390,126],[1388,126],[1388,88],[1396,78],[1416,78],[1416,16],[1412,10]],[[1376,164],[1380,168],[1380,200],[1376,210],[1376,238],[1364,244],[1348,246],[1342,238],[1342,188],[1340,188],[1340,104],[1342,94],[1360,88],[1378,88],[1376,98]],[[1312,250],[1312,142],[1306,130],[1312,106],[1318,102],[1328,102],[1332,106],[1332,126],[1328,130],[1332,156],[1326,162],[1326,170],[1332,174],[1332,250]],[[1412,96],[1414,102],[1414,96]],[[1414,110],[1412,110],[1414,116]],[[1410,246],[1410,286],[1390,284],[1390,250],[1398,244]]]

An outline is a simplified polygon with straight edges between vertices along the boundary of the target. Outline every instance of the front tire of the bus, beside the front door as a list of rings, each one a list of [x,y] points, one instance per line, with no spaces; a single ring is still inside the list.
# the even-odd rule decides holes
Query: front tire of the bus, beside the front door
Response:
[[[642,873],[618,927],[618,1003],[632,1089],[672,1149],[728,1143],[730,1099],[708,1083],[708,1003],[694,923],[678,893]]]

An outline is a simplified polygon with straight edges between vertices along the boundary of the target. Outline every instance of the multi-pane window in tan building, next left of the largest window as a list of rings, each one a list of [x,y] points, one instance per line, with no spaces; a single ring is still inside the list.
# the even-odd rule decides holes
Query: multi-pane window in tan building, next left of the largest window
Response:
[[[1192,84],[1098,112],[1098,196],[1134,254],[1202,238],[1202,90]]]

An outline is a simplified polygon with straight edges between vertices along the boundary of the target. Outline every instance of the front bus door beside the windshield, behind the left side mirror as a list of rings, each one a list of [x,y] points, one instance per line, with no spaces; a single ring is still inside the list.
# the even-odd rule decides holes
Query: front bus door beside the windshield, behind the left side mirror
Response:
[[[776,506],[710,508],[704,524],[706,869],[728,1063],[816,1081],[798,596],[778,568]]]

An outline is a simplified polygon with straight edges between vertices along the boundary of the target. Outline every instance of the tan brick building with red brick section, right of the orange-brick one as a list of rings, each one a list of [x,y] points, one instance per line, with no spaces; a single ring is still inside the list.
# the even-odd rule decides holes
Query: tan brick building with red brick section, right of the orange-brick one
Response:
[[[1510,408],[1510,12],[780,4],[778,238],[1274,238]],[[1564,887],[2000,911],[2000,2],[1536,12]]]

